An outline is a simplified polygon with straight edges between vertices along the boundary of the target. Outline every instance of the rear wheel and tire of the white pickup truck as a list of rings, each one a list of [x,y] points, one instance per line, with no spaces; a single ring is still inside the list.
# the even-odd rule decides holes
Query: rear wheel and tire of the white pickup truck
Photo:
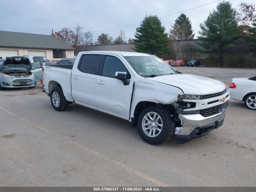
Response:
[[[54,87],[51,91],[51,103],[52,107],[56,111],[64,111],[68,108],[68,101],[66,100],[62,89],[60,87]]]

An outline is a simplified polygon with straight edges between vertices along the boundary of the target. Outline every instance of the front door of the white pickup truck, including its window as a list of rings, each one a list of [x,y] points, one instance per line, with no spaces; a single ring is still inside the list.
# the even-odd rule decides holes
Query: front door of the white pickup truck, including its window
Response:
[[[126,67],[122,58],[114,55],[103,56],[96,80],[97,107],[116,116],[129,119],[130,102],[134,84],[134,76]],[[116,72],[127,72],[128,85],[115,78]]]

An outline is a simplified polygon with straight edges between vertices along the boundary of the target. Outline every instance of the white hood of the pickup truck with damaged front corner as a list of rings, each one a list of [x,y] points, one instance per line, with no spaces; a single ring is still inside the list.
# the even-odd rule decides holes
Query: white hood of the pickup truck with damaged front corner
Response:
[[[184,94],[205,95],[222,92],[226,88],[226,85],[218,80],[190,74],[171,74],[146,79],[176,86],[182,89]]]

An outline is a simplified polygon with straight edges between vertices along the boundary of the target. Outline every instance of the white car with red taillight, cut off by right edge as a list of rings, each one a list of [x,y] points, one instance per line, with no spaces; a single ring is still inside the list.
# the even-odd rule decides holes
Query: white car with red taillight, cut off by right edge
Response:
[[[256,76],[251,78],[233,78],[229,86],[230,98],[244,101],[245,105],[256,110]]]

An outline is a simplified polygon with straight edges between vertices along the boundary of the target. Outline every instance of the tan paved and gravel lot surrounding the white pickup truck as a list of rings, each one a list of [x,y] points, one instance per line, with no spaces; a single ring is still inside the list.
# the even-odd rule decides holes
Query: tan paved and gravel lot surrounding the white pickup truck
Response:
[[[256,70],[178,68],[229,84]],[[128,121],[34,89],[0,91],[0,186],[255,186],[256,111],[230,100],[222,127],[177,145],[145,143]]]

